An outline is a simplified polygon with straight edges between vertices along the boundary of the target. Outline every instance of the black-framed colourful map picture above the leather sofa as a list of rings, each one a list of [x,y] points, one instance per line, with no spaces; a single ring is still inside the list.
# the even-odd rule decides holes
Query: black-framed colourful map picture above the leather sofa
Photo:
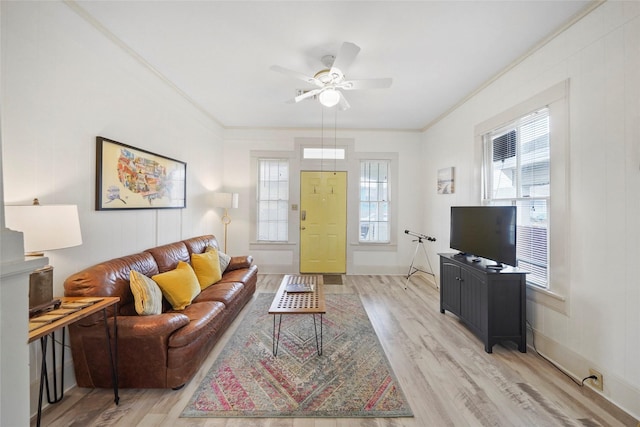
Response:
[[[187,206],[187,164],[96,138],[96,210]]]

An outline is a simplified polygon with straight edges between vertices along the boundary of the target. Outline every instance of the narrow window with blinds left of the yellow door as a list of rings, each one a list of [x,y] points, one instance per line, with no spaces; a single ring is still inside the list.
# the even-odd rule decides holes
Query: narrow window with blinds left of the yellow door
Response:
[[[289,239],[289,161],[258,160],[258,241]]]

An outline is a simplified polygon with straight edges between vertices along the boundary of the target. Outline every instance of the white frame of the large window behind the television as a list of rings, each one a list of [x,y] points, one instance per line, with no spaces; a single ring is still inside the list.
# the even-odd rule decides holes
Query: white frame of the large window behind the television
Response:
[[[476,165],[478,170],[478,195],[482,197],[483,173],[483,135],[493,129],[500,128],[527,113],[549,108],[550,135],[549,149],[550,202],[549,218],[549,279],[548,288],[527,285],[527,298],[533,302],[543,304],[563,314],[569,313],[568,300],[570,298],[570,247],[569,247],[569,217],[570,217],[570,181],[569,181],[569,80],[561,81],[554,86],[534,95],[533,97],[515,105],[514,107],[487,119],[474,129]]]

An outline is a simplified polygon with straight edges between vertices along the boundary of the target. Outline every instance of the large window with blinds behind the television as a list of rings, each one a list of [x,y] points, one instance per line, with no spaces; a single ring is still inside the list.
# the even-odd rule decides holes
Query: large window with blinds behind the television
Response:
[[[528,114],[483,137],[485,202],[518,208],[516,255],[527,281],[549,284],[549,110]]]

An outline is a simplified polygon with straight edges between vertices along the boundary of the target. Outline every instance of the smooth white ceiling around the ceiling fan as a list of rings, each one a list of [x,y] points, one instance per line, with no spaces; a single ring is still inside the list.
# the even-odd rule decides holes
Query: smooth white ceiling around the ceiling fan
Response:
[[[590,0],[78,1],[131,51],[225,127],[318,128],[307,75],[344,41],[361,51],[350,79],[391,77],[349,91],[339,128],[424,129],[569,22]],[[324,120],[335,108],[325,110]],[[333,123],[333,122],[331,122]]]

